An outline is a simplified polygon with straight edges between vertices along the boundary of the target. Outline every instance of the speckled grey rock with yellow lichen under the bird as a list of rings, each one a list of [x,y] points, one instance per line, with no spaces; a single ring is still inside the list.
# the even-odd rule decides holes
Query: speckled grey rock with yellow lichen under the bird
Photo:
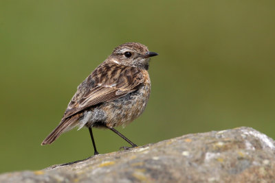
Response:
[[[250,127],[188,134],[0,182],[275,182],[275,143]]]

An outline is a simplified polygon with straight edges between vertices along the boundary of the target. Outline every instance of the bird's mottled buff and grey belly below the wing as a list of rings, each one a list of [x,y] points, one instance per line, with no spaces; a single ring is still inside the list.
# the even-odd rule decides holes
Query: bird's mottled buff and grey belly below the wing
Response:
[[[124,97],[100,103],[83,113],[79,119],[79,128],[126,126],[144,111],[150,97],[150,83],[145,83],[133,93]]]

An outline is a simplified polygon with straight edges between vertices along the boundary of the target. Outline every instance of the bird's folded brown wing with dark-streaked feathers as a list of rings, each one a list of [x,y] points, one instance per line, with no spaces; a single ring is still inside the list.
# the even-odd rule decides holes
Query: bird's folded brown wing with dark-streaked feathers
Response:
[[[63,119],[98,103],[113,101],[135,91],[144,78],[142,71],[132,66],[101,64],[78,86]]]

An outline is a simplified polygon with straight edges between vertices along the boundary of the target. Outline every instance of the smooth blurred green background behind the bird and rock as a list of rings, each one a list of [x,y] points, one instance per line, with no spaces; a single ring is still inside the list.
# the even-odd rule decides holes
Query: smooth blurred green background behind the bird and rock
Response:
[[[141,42],[151,99],[118,128],[137,145],[254,127],[275,138],[275,1],[0,1],[0,172],[93,155],[86,128],[43,139],[116,46]],[[122,138],[94,130],[101,154]]]

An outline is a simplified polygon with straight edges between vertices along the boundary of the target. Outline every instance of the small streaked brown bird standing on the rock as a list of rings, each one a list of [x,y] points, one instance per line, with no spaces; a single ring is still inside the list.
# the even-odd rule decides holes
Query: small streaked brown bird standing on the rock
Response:
[[[61,122],[41,145],[53,143],[64,132],[78,127],[89,129],[94,155],[99,154],[92,132],[93,127],[109,129],[131,147],[137,147],[115,127],[125,127],[144,111],[151,93],[148,75],[149,60],[158,53],[148,51],[138,42],[119,45],[77,87]]]

